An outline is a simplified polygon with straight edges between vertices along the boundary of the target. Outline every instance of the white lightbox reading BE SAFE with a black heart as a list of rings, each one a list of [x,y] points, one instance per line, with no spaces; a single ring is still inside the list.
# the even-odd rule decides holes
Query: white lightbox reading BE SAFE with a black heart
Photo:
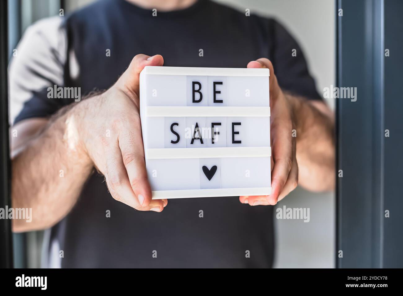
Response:
[[[268,69],[146,66],[140,117],[153,199],[270,195]]]

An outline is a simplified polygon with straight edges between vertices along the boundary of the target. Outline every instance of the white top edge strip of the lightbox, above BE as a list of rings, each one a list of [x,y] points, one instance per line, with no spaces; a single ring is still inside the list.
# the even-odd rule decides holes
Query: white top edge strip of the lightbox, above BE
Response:
[[[270,70],[267,68],[198,68],[145,66],[141,72],[152,75],[270,76]]]

